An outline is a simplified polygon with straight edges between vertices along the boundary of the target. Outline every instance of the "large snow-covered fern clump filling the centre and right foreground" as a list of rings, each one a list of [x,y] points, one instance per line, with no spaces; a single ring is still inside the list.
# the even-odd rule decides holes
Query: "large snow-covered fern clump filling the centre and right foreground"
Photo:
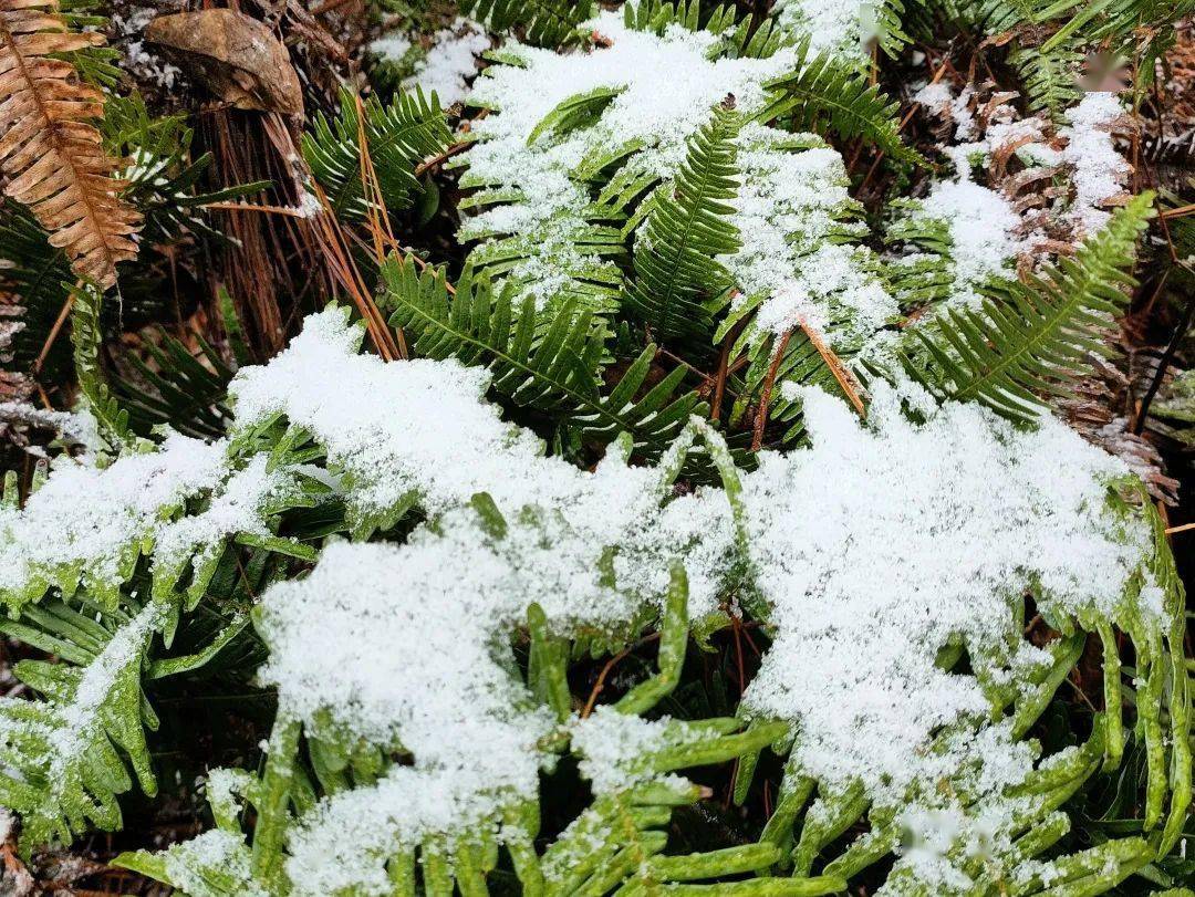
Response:
[[[280,705],[264,776],[244,793],[259,813],[253,886],[266,892],[384,892],[394,876],[409,880],[416,856],[425,876],[467,880],[494,862],[495,844],[507,847],[525,884],[571,879],[589,867],[580,859],[559,867],[551,848],[538,856],[528,821],[540,769],[574,741],[582,773],[599,791],[612,787],[615,804],[648,786],[685,793],[682,782],[652,785],[670,769],[783,745],[786,781],[796,782],[790,800],[804,803],[815,788],[819,795],[799,836],[791,803],[767,835],[782,850],[793,838],[797,876],[808,877],[831,841],[871,815],[874,834],[827,867],[829,890],[835,868],[858,871],[895,849],[919,812],[957,816],[960,833],[982,819],[994,853],[976,866],[952,859],[951,841],[931,868],[899,864],[894,881],[962,880],[978,870],[1012,876],[1017,838],[1038,823],[1058,824],[1055,791],[1117,756],[1123,737],[1119,721],[1101,721],[1089,752],[1078,755],[1089,757],[1081,766],[1060,755],[1035,767],[1035,750],[1019,739],[1056,688],[1055,670],[1068,669],[1081,643],[1064,638],[1043,650],[1023,641],[1024,586],[1034,586],[1041,613],[1064,632],[1103,621],[1095,626],[1103,637],[1115,625],[1141,645],[1148,676],[1160,682],[1172,666],[1165,645],[1175,644],[1179,594],[1168,557],[1156,553],[1157,523],[1119,497],[1123,467],[1059,424],[1024,434],[976,406],[948,405],[914,425],[897,395],[880,391],[864,428],[838,400],[809,394],[813,448],[768,456],[756,473],[734,473],[721,441],[697,420],[656,467],[627,467],[615,450],[586,473],[544,457],[526,434],[498,420],[482,399],[484,380],[449,386],[453,370],[468,369],[386,364],[357,355],[356,340],[343,314],[329,311],[276,362],[243,370],[232,388],[249,431],[281,413],[292,429],[276,438],[295,446],[289,434],[304,428],[350,504],[388,520],[411,506],[433,515],[402,546],[330,546],[311,576],[263,596],[256,625],[270,659],[262,675],[277,684]],[[320,399],[329,373],[342,386],[360,377],[369,394],[391,400],[354,408]],[[429,401],[459,405],[428,414],[421,403]],[[929,408],[926,397],[917,401]],[[392,408],[413,417],[396,419]],[[415,420],[431,429],[412,441]],[[387,426],[394,435],[379,440]],[[354,456],[349,447],[363,434],[394,453],[374,455],[375,472],[387,474],[385,491],[339,460]],[[721,459],[725,489],[669,500],[698,436]],[[421,463],[406,454],[433,447],[474,460]],[[1068,459],[1065,485],[1047,460],[1058,457]],[[857,530],[853,503],[870,503],[881,484],[897,481],[885,465],[905,483],[924,472],[914,480],[918,503],[883,503],[893,516],[872,515],[870,535],[840,533],[832,520]],[[958,520],[969,523],[952,529],[957,548],[948,549],[944,524]],[[979,539],[1005,553],[974,554]],[[1077,540],[1081,566],[1068,560]],[[972,572],[961,572],[968,565]],[[876,570],[899,567],[908,573],[887,592],[866,585]],[[944,592],[946,583],[961,591]],[[718,626],[718,596],[735,584],[773,633],[742,719],[627,729],[603,711],[572,721],[569,643],[618,645],[658,620],[660,672],[613,705],[642,713],[675,688],[690,621],[700,623],[698,632]],[[933,604],[932,628],[920,622],[921,602]],[[532,635],[526,674],[511,653],[520,629]],[[412,632],[415,653],[394,653]],[[335,675],[312,666],[317,646]],[[972,671],[951,672],[963,652]],[[877,683],[890,689],[878,702]],[[1166,762],[1158,742],[1163,754],[1150,767],[1158,782],[1152,812],[1165,819],[1166,841],[1177,836],[1189,800],[1185,717],[1173,698],[1169,706],[1176,756]],[[315,779],[292,792],[300,738]],[[392,760],[404,755],[410,763]],[[926,790],[933,781],[951,782],[949,793],[967,799],[942,803],[940,791]],[[1168,792],[1175,797],[1165,813]],[[627,849],[614,831],[611,849]],[[1105,867],[1111,850],[1093,856]],[[1141,855],[1117,860],[1115,876]],[[149,859],[130,862],[155,868]],[[654,874],[643,862],[618,868],[631,879]],[[1076,862],[1087,868],[1087,860]],[[586,873],[596,874],[607,873]]]

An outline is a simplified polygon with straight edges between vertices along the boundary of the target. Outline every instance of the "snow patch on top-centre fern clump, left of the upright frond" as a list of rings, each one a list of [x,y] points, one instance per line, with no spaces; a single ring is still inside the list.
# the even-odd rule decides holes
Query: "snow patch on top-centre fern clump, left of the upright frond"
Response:
[[[471,94],[471,103],[501,113],[474,122],[478,145],[464,154],[468,172],[462,184],[488,188],[495,196],[514,191],[526,201],[483,211],[466,221],[460,236],[519,238],[531,260],[513,274],[545,301],[558,288],[537,290],[535,282],[558,268],[553,247],[586,226],[588,189],[570,179],[570,171],[599,152],[633,142],[642,149],[626,162],[629,171],[672,177],[685,156],[686,139],[710,119],[716,104],[733,94],[744,113],[761,109],[764,82],[795,61],[791,48],[764,60],[716,59],[723,44],[715,35],[680,25],[669,26],[662,37],[639,32],[614,12],[602,12],[587,27],[611,45],[560,55],[508,44],[504,51],[523,64],[488,68]],[[668,90],[661,90],[662,84]],[[599,87],[620,93],[594,123],[527,145],[535,125],[559,103]],[[535,268],[538,259],[547,268]],[[602,264],[596,256],[580,260]]]

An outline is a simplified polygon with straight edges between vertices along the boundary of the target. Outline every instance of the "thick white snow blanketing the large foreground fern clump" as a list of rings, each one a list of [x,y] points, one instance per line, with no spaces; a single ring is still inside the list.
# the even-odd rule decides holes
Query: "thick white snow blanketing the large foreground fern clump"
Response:
[[[313,893],[382,885],[380,866],[327,855],[496,825],[503,807],[537,793],[556,724],[509,672],[510,634],[531,602],[560,634],[617,632],[658,602],[681,558],[697,619],[716,607],[716,571],[737,551],[721,490],[666,502],[658,473],[627,467],[617,450],[594,473],[544,457],[484,403],[483,371],[386,364],[354,355],[355,343],[343,315],[324,312],[287,354],[234,383],[238,414],[281,410],[325,442],[350,499],[416,489],[439,512],[404,545],[331,545],[308,577],[262,600],[263,681],[278,687],[281,712],[317,737],[329,714],[331,731],[412,756],[301,821],[288,868]],[[807,391],[813,448],[764,453],[742,475],[748,560],[774,637],[743,706],[791,723],[799,768],[829,790],[862,781],[880,805],[913,799],[945,812],[918,788],[966,776],[987,801],[983,824],[1006,835],[1017,806],[1001,793],[1034,757],[1007,723],[991,723],[988,689],[1016,688],[1048,661],[1021,638],[1021,596],[1034,588],[1054,618],[1162,613],[1152,583],[1139,598],[1129,586],[1150,532],[1107,510],[1109,484],[1127,468],[1061,423],[1023,431],[948,404],[914,424],[900,411],[914,393],[876,386],[863,424]],[[361,453],[369,461],[358,467]],[[468,506],[483,491],[503,537]],[[599,573],[609,548],[613,582]],[[982,680],[934,665],[955,640]],[[639,770],[624,760],[657,745],[666,725],[611,713],[570,724],[599,791],[633,781]]]

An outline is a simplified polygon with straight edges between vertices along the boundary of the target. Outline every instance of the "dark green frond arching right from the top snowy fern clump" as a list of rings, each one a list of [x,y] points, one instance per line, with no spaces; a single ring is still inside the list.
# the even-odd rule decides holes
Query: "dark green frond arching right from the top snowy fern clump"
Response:
[[[900,137],[900,104],[854,67],[828,55],[810,59],[808,41],[797,50],[793,70],[766,86],[773,98],[755,121],[780,119],[817,134],[829,129],[845,140],[865,140],[894,160],[927,165]]]

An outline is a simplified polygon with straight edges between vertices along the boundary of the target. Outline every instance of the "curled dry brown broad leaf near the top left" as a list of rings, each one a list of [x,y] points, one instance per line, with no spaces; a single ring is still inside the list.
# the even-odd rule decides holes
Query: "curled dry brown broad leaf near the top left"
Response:
[[[290,54],[265,24],[234,10],[160,16],[146,39],[163,48],[237,109],[302,113],[302,87]]]

